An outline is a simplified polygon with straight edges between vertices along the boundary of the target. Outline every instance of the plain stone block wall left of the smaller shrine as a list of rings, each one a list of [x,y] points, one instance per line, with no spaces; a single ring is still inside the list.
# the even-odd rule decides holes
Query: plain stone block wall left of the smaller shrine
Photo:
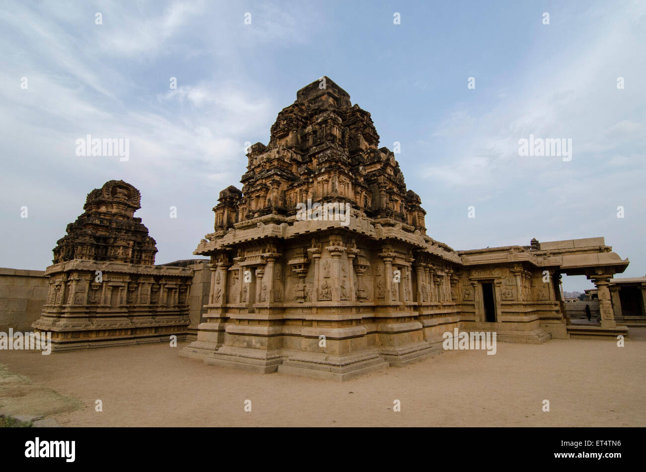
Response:
[[[47,299],[48,279],[43,270],[0,268],[0,331],[34,331]]]

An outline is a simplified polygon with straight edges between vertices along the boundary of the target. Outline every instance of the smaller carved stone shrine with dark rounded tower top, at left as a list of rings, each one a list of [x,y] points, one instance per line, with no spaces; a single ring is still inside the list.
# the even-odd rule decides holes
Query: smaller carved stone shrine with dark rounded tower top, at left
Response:
[[[193,270],[155,266],[155,241],[134,212],[141,195],[123,181],[87,195],[84,213],[57,241],[43,313],[52,350],[184,339]]]

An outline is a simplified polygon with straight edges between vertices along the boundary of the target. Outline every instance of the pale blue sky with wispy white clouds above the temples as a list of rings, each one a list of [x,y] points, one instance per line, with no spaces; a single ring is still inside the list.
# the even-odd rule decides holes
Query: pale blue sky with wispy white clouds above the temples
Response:
[[[192,259],[220,190],[242,188],[244,143],[267,144],[297,90],[327,75],[371,113],[380,147],[401,143],[433,239],[603,236],[630,259],[620,277],[640,277],[645,51],[645,1],[6,1],[0,266],[44,270],[111,179],[140,190],[156,263]],[[129,159],[78,156],[88,134],[128,139]],[[530,135],[571,139],[571,159],[519,155]]]

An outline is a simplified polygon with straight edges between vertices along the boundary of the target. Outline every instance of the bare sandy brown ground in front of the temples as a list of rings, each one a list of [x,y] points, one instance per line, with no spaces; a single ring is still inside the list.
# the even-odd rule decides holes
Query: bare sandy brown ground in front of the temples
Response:
[[[62,426],[646,426],[646,328],[631,328],[623,348],[500,342],[495,355],[445,351],[348,382],[209,366],[179,357],[186,344],[0,351],[12,375],[28,377],[13,377],[14,393],[25,382],[44,392],[35,401],[0,389],[0,406]]]

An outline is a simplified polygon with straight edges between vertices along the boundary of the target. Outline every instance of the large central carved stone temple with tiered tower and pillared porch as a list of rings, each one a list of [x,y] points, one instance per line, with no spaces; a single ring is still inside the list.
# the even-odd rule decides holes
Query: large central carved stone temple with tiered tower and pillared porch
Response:
[[[453,328],[530,343],[627,334],[608,283],[629,262],[603,238],[470,251],[435,241],[370,113],[328,77],[298,90],[247,158],[242,191],[220,192],[194,251],[211,258],[211,291],[180,355],[343,380],[424,359]],[[561,273],[598,286],[601,326],[569,326]]]

